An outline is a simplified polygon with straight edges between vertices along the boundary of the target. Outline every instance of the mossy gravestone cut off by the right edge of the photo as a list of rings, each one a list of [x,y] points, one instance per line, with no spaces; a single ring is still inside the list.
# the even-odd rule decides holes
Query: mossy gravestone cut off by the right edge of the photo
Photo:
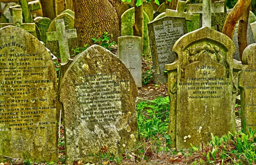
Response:
[[[247,133],[248,127],[256,129],[256,44],[247,46],[243,53],[243,70],[239,72],[241,91],[241,124]]]

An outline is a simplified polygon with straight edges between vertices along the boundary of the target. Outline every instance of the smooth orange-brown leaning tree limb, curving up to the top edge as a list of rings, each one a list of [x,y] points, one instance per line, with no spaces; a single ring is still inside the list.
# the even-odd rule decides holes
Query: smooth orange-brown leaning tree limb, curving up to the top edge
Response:
[[[244,11],[250,5],[251,0],[238,0],[235,7],[227,15],[224,27],[222,30],[223,34],[226,34],[230,39],[233,39],[233,34],[236,28],[236,24],[239,21],[240,17],[244,14]]]

